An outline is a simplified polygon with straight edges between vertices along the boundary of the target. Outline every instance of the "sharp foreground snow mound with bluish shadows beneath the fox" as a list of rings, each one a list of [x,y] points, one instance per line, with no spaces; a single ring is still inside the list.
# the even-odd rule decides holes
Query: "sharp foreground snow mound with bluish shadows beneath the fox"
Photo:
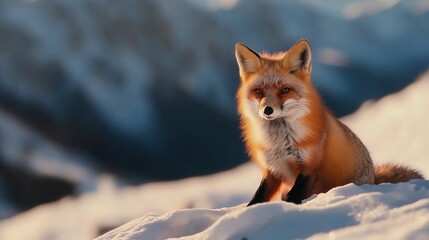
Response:
[[[389,231],[386,231],[389,229]],[[302,205],[273,202],[147,215],[103,239],[426,239],[429,181],[334,188]]]

